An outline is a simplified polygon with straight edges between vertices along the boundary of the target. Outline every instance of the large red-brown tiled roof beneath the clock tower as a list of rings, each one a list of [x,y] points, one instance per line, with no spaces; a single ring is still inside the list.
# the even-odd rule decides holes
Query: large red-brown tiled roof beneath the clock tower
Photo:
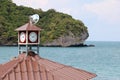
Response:
[[[0,65],[0,80],[89,80],[95,76],[38,55],[26,56],[24,53]]]

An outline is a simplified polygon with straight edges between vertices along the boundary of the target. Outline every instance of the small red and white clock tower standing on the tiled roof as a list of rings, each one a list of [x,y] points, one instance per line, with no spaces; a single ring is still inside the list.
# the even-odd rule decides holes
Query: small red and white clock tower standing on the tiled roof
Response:
[[[34,17],[33,17],[34,18]],[[40,28],[30,19],[28,23],[16,29],[18,31],[19,54],[35,51],[39,54]]]

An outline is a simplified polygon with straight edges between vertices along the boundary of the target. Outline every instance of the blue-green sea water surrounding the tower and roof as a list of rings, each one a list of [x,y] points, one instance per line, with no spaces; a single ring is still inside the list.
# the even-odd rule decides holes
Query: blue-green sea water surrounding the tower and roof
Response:
[[[95,47],[40,47],[43,58],[95,73],[92,80],[120,80],[120,42],[87,41]],[[18,48],[0,47],[0,64],[18,56]],[[73,75],[74,76],[74,75]]]

